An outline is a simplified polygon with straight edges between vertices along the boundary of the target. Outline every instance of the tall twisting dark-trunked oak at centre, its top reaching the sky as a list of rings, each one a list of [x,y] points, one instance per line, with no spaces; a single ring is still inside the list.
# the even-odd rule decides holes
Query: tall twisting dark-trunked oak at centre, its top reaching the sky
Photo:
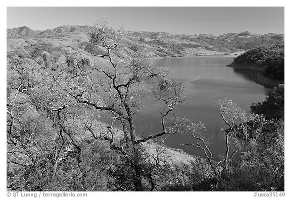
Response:
[[[78,103],[82,103],[96,110],[104,110],[112,114],[112,122],[107,126],[109,135],[106,139],[111,142],[111,148],[120,151],[128,160],[134,170],[133,183],[135,190],[142,190],[141,170],[138,165],[139,144],[148,140],[177,133],[169,130],[166,118],[175,106],[185,102],[185,90],[181,83],[170,80],[163,74],[160,68],[150,64],[141,48],[135,51],[125,51],[120,47],[122,29],[114,30],[108,27],[106,22],[96,25],[89,33],[90,42],[105,48],[104,54],[95,54],[106,58],[104,64],[97,72],[103,74],[105,84],[104,93],[96,100],[96,92],[85,90],[76,95]],[[115,55],[117,56],[115,56]],[[155,88],[149,88],[149,84]],[[162,131],[148,137],[139,138],[134,124],[134,116],[142,107],[142,97],[145,90],[153,90],[154,96],[163,107],[160,109]],[[122,128],[124,142],[117,146],[113,125],[119,121]],[[93,134],[90,124],[85,127]],[[96,136],[93,136],[96,138]]]

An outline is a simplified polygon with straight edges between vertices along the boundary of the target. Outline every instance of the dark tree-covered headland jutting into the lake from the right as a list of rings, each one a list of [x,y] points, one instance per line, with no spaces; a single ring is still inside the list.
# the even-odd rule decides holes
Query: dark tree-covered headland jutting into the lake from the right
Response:
[[[284,45],[251,49],[233,61],[237,64],[256,65],[262,68],[266,77],[284,80]]]

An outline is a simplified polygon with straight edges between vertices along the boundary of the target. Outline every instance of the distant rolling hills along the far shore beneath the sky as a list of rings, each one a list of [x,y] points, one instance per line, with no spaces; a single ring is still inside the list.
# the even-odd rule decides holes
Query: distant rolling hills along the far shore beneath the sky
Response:
[[[65,25],[44,31],[34,31],[28,27],[7,29],[7,50],[21,43],[42,44],[50,47],[71,46],[89,53],[98,53],[88,43],[90,26]],[[18,39],[18,40],[16,40]],[[21,43],[19,43],[21,39]],[[211,34],[182,35],[165,32],[124,31],[124,48],[137,45],[146,49],[153,57],[199,56],[199,55],[239,55],[246,50],[262,45],[272,47],[284,43],[284,34],[269,33],[259,35],[251,32],[228,33],[218,36]]]

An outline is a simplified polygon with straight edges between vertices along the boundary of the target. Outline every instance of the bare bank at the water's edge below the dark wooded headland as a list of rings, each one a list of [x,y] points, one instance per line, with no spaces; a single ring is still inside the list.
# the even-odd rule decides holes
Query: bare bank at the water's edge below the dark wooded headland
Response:
[[[226,67],[236,68],[236,69],[244,69],[244,70],[256,70],[256,71],[260,71],[260,72],[264,71],[264,67],[259,67],[257,64],[238,64],[238,63],[232,62],[232,63],[226,65]],[[284,81],[270,79],[270,78],[265,77],[263,75],[256,77],[256,78],[252,78],[252,80],[259,85],[263,85],[266,88],[274,88],[274,87],[277,87],[279,84],[284,84]]]

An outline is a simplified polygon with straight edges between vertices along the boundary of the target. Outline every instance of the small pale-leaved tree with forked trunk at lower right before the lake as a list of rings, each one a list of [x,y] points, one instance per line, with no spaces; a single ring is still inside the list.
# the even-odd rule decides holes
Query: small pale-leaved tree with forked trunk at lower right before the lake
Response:
[[[231,99],[226,98],[224,100],[219,100],[217,103],[219,104],[220,115],[226,126],[221,129],[225,138],[225,155],[222,160],[218,162],[213,160],[212,151],[209,149],[210,138],[206,136],[206,127],[202,122],[193,123],[187,119],[181,119],[179,121],[180,125],[177,127],[180,128],[179,130],[181,133],[197,140],[196,144],[187,143],[182,145],[191,145],[203,150],[213,173],[219,176],[221,172],[225,173],[228,170],[229,164],[235,154],[246,145],[249,136],[248,132],[250,130],[247,121],[256,119],[256,117],[247,117],[247,113]],[[243,138],[241,138],[241,134],[243,134]],[[222,169],[219,166],[221,163],[223,163]]]

